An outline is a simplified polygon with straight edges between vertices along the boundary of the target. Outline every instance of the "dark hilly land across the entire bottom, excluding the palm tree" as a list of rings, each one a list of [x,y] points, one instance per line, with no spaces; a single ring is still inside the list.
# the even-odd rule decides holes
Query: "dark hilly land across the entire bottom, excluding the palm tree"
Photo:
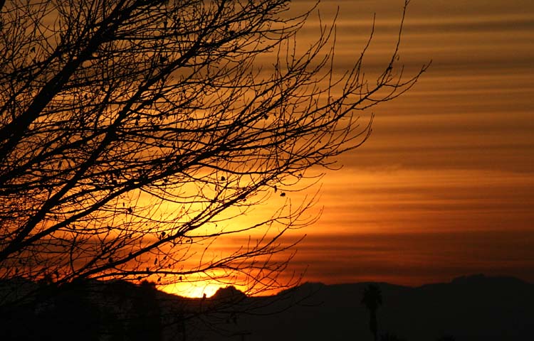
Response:
[[[0,293],[7,284],[0,285]],[[92,281],[55,300],[25,305],[19,317],[4,311],[11,323],[0,335],[2,340],[14,340],[9,333],[19,340],[28,335],[44,340],[44,333],[53,335],[51,340],[365,341],[372,335],[369,313],[360,301],[369,284],[303,283],[266,297],[247,297],[229,287],[212,298],[183,298],[150,284]],[[417,288],[378,286],[383,299],[377,312],[380,333],[407,341],[444,335],[456,341],[532,340],[532,283],[474,275]],[[90,334],[78,332],[84,328]]]

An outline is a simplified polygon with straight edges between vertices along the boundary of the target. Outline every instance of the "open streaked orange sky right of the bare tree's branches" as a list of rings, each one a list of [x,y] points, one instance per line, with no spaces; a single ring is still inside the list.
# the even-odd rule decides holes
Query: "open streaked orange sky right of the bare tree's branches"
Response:
[[[321,2],[323,21],[340,8],[340,71],[359,55],[375,12],[367,67],[383,65],[403,3]],[[301,41],[314,37],[314,24]],[[420,285],[473,273],[534,281],[534,2],[413,0],[400,56],[409,70],[433,62],[414,89],[373,110],[369,141],[325,176],[323,215],[291,234],[307,237],[283,276],[307,269],[303,281],[324,283]]]

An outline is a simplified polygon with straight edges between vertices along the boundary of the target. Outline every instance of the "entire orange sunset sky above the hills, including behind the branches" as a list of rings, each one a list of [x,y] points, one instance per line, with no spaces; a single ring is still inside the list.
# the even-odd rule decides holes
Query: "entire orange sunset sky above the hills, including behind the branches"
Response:
[[[260,25],[260,31],[252,30],[256,33],[248,32],[248,26],[266,18],[263,5],[258,13],[230,6],[228,17],[221,11],[224,6],[209,8],[213,21],[204,31],[197,30],[197,20],[203,25],[209,16],[196,17],[202,1],[186,6],[187,11],[162,6],[150,29],[147,20],[157,18],[157,11],[143,7],[140,13],[117,9],[109,14],[103,1],[98,5],[102,10],[87,9],[106,17],[94,24],[93,38],[81,36],[89,39],[87,46],[77,38],[75,43],[62,38],[65,31],[76,32],[78,21],[71,23],[75,11],[61,4],[36,6],[21,21],[15,13],[24,6],[6,5],[9,11],[4,12],[10,18],[6,23],[13,23],[9,28],[17,30],[26,30],[26,16],[39,19],[34,31],[33,19],[27,21],[26,31],[36,36],[4,30],[4,46],[15,51],[14,57],[4,58],[6,65],[16,65],[17,58],[21,64],[4,72],[6,89],[11,86],[13,94],[7,94],[11,97],[4,105],[9,136],[2,147],[7,165],[2,176],[9,190],[4,189],[2,199],[9,207],[1,220],[8,224],[0,279],[54,274],[57,281],[70,281],[125,274],[132,281],[147,276],[164,291],[199,297],[227,284],[266,294],[307,281],[420,286],[470,274],[516,276],[534,283],[533,0],[411,0],[398,53],[405,0],[293,0],[280,21],[268,21],[272,26]],[[295,45],[291,36],[275,40],[280,50],[269,51],[269,38],[278,38],[283,23],[288,23],[283,32],[291,33],[296,26],[290,26],[295,24],[290,18],[310,9]],[[238,11],[236,18],[232,11]],[[248,12],[251,18],[242,16]],[[108,16],[115,14],[127,33],[112,30],[117,36],[105,38]],[[130,14],[131,23],[122,23]],[[86,30],[85,19],[79,18],[80,32],[93,35],[93,23]],[[325,25],[334,25],[331,64],[330,45],[313,52],[314,44],[323,41],[321,33],[328,32]],[[42,36],[41,29],[46,32]],[[164,34],[156,33],[160,29]],[[276,34],[265,33],[270,29]],[[158,35],[136,36],[145,31]],[[20,39],[23,48],[10,43],[11,37],[26,37]],[[155,45],[140,43],[145,41]],[[104,45],[109,42],[108,51]],[[79,55],[66,48],[71,43]],[[362,68],[350,73],[366,46]],[[248,48],[261,51],[250,68],[248,58],[255,54]],[[56,52],[41,60],[47,49]],[[327,55],[326,67],[310,82],[306,72],[300,73],[302,62],[290,63],[295,51],[299,60],[307,50],[317,57],[310,68]],[[122,54],[129,57],[119,58]],[[24,63],[38,65],[35,70],[42,68],[42,75],[34,75]],[[289,77],[282,76],[285,69]],[[333,118],[332,112],[361,98],[357,91],[376,99],[391,89],[382,87],[383,79],[377,81],[390,70],[394,75],[402,70],[406,83],[401,84],[425,72],[399,98],[356,112],[357,120],[350,115]],[[368,83],[362,82],[360,90],[343,89],[343,75],[358,75],[359,82],[360,71]],[[117,86],[108,84],[115,78],[120,80]],[[160,86],[160,81],[168,84]],[[302,86],[299,91],[286,91],[293,90],[294,82]],[[377,84],[380,90],[375,92]],[[355,90],[344,97],[347,89]],[[313,100],[308,102],[310,93]],[[19,94],[21,108],[28,107],[16,121],[19,109],[10,103],[19,103]],[[340,96],[346,102],[336,107]],[[294,119],[308,110],[305,105],[327,103],[324,116],[318,109],[311,117],[305,113],[304,119]],[[103,114],[100,107],[109,107],[109,112]],[[14,113],[7,114],[8,109]],[[71,116],[63,117],[63,112]],[[355,129],[355,134],[367,133],[371,121],[372,134],[362,146],[328,159],[335,161],[332,169],[318,166],[336,153],[336,144],[345,137],[340,131],[357,122],[362,130]],[[93,132],[85,136],[89,130]],[[352,142],[359,143],[362,136]],[[309,148],[322,149],[312,153]],[[16,201],[18,195],[21,202],[27,200],[26,206]],[[314,205],[298,216],[303,220],[295,219],[293,212],[301,213],[310,201]],[[303,221],[313,224],[297,228],[306,225]],[[271,249],[278,242],[281,253]],[[28,251],[28,257],[14,250]],[[69,260],[62,250],[68,250]],[[271,256],[271,263],[263,263]],[[281,272],[266,266],[288,260],[287,268],[278,268]]]

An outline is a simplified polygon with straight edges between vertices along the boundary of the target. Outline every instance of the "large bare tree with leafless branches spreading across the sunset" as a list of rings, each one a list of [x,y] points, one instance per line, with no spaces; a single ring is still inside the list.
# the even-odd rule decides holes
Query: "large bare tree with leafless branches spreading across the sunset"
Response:
[[[310,12],[287,18],[289,3],[3,3],[0,279],[242,274],[258,288],[276,284],[285,263],[270,256],[290,247],[286,229],[310,223],[310,202],[229,222],[360,146],[372,119],[358,112],[426,69],[404,77],[397,44],[368,81],[366,47],[336,79],[332,26],[299,50]],[[216,237],[268,229],[276,233],[207,256]]]

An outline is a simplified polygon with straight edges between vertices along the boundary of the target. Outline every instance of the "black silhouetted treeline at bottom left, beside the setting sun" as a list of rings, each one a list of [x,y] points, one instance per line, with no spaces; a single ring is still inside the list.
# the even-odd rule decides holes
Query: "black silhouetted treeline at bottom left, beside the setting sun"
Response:
[[[0,340],[162,340],[152,283],[43,281],[31,291],[18,304],[5,305]]]

